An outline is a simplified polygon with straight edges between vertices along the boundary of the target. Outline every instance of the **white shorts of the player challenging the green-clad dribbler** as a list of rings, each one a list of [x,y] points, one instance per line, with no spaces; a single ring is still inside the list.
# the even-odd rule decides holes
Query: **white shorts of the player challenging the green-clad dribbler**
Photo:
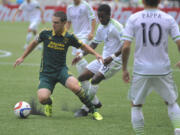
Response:
[[[104,66],[97,60],[94,60],[91,63],[89,63],[86,68],[94,74],[100,72],[104,75],[105,79],[108,79],[121,69],[121,65],[121,61],[113,60],[108,66]]]

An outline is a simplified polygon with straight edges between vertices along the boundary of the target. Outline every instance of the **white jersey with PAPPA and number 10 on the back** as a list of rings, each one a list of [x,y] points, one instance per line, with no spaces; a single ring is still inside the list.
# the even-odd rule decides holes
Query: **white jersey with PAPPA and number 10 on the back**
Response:
[[[180,40],[179,26],[173,17],[158,9],[143,10],[129,17],[123,39],[135,37],[134,72],[165,75],[171,72],[168,36]]]

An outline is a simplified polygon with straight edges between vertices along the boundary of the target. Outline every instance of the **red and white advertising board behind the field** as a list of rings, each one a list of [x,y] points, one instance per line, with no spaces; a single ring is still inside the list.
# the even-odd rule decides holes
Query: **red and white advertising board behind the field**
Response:
[[[10,21],[12,20],[12,17],[17,10],[18,5],[7,5],[7,6],[2,6],[0,5],[0,21]],[[94,8],[96,10],[96,8]],[[45,7],[45,14],[44,14],[44,19],[47,22],[51,21],[51,17],[54,13],[54,11],[61,10],[61,11],[66,11],[66,7],[64,6],[46,6]],[[133,7],[128,7],[128,8],[119,8],[114,7],[112,9],[112,17],[119,20],[120,23],[125,23],[127,18],[132,14],[135,13],[139,10],[142,10],[142,8],[133,8]],[[167,12],[171,16],[175,18],[175,20],[180,24],[180,8],[164,8],[162,9],[163,11]],[[16,21],[26,21],[27,19],[25,18],[25,15],[19,14],[16,18]]]

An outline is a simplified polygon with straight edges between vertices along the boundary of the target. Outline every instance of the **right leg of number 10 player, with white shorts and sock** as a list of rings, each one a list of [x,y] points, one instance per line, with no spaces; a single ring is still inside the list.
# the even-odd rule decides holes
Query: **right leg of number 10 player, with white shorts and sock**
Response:
[[[167,104],[168,116],[174,127],[175,135],[180,135],[180,107],[176,102],[178,91],[173,81],[172,74],[159,76],[153,83],[157,88],[156,91]]]

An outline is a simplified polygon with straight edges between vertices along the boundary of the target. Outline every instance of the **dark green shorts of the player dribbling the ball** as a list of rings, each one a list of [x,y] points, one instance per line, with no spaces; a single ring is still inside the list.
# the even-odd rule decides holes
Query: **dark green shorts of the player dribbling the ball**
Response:
[[[54,87],[56,83],[61,83],[65,86],[66,80],[72,76],[68,72],[68,68],[66,66],[62,67],[60,71],[55,73],[43,73],[41,72],[39,75],[39,86],[38,89],[47,88],[53,93]]]

